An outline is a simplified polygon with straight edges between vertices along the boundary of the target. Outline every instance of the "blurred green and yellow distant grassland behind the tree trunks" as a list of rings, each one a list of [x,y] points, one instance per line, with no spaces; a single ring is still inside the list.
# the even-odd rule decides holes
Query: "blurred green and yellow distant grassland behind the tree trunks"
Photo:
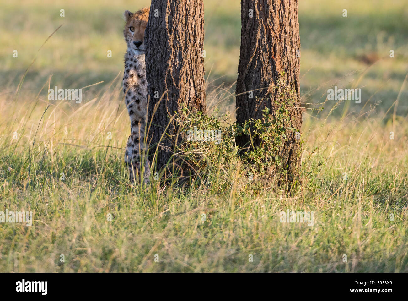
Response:
[[[51,87],[81,88],[103,81],[84,89],[86,103],[119,75],[114,82],[117,87],[126,51],[122,13],[149,5],[146,0],[2,0],[0,97],[7,100],[12,95],[35,57],[21,88],[25,96],[36,96],[49,83]],[[235,91],[239,5],[239,0],[204,0],[205,69],[210,90],[232,85],[230,91]],[[60,16],[61,9],[64,17]],[[344,9],[347,17],[343,17]],[[302,102],[323,103],[327,89],[335,85],[355,87],[362,89],[362,102],[350,103],[348,113],[359,113],[364,105],[365,110],[377,105],[378,111],[386,112],[400,94],[397,115],[407,114],[408,85],[402,84],[408,71],[408,0],[300,0],[299,23]],[[13,58],[14,50],[18,51],[17,58]],[[109,50],[111,58],[107,57]],[[391,50],[394,58],[390,58]],[[46,96],[45,89],[40,98],[47,100]],[[325,111],[335,103],[325,103]],[[233,109],[235,100],[225,97],[220,107]],[[310,110],[306,113],[317,114]]]

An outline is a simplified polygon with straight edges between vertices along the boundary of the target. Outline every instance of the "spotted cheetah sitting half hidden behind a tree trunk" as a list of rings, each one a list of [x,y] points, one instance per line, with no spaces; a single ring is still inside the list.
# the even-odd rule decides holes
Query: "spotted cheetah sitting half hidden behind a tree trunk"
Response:
[[[144,58],[144,30],[149,18],[149,8],[140,9],[135,13],[124,12],[126,25],[123,35],[127,43],[124,56],[123,93],[130,117],[130,132],[125,151],[125,164],[129,168],[130,180],[135,178],[147,183],[150,176],[150,162],[146,156],[144,143],[147,114],[147,81]],[[144,161],[142,163],[141,161]],[[142,168],[144,167],[144,168]]]

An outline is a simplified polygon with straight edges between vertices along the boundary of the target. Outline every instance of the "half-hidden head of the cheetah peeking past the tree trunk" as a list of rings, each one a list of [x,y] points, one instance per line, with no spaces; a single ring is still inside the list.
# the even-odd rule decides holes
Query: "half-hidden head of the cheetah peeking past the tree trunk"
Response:
[[[149,19],[149,11],[149,8],[143,8],[135,13],[130,11],[123,13],[126,21],[123,35],[128,46],[128,52],[133,52],[136,56],[144,55],[144,30]]]

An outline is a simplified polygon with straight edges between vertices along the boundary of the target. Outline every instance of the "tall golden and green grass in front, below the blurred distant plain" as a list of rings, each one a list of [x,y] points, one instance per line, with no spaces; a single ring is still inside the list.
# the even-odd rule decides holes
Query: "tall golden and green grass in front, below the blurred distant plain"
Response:
[[[222,143],[197,146],[206,152],[196,185],[133,189],[122,162],[128,125],[118,85],[71,110],[41,98],[16,106],[2,96],[0,206],[33,211],[34,221],[1,224],[1,271],[407,271],[402,120],[392,140],[392,124],[375,114],[305,118],[304,181],[285,197],[260,187],[256,174],[250,181],[251,166],[222,151],[234,118],[218,114]],[[210,91],[208,101],[220,93]],[[281,223],[287,209],[314,212],[313,226]]]

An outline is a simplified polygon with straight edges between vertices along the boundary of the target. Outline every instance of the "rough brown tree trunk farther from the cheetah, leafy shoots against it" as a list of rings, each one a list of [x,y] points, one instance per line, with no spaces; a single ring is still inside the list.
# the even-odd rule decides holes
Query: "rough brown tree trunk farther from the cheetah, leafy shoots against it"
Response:
[[[269,176],[277,172],[290,185],[299,176],[300,128],[302,111],[299,99],[300,37],[298,0],[241,0],[241,48],[236,89],[237,124],[251,119],[265,120],[263,110],[279,126],[283,120],[284,137],[278,145],[278,170],[274,160],[264,170]],[[279,78],[293,94],[282,93]],[[282,110],[282,108],[284,108]],[[279,109],[281,109],[279,111]],[[288,118],[282,118],[282,111]],[[249,135],[237,136],[241,147],[256,149],[264,140],[254,133],[249,123]],[[283,135],[284,134],[284,135]],[[252,138],[252,145],[250,143]]]

